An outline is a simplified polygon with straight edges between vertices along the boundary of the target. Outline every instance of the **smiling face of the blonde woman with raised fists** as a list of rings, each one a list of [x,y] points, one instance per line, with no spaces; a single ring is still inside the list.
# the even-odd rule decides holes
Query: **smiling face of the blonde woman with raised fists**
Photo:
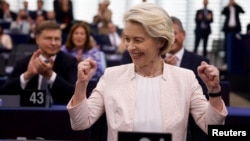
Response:
[[[159,62],[163,43],[150,37],[140,23],[130,21],[124,29],[124,45],[136,66],[147,67]]]

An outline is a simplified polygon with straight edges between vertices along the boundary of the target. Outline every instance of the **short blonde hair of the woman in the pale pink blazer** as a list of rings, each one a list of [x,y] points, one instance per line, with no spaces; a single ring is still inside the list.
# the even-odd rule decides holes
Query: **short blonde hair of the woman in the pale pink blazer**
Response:
[[[124,15],[124,22],[142,24],[149,36],[164,38],[165,45],[160,49],[160,55],[170,50],[174,42],[173,23],[168,13],[160,6],[143,2],[130,8]]]

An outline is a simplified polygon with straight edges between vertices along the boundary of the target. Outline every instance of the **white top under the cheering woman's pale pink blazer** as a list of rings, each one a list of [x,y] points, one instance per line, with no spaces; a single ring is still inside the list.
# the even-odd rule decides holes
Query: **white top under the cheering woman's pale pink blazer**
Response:
[[[161,115],[161,75],[149,78],[136,74],[137,91],[134,131],[163,132]]]

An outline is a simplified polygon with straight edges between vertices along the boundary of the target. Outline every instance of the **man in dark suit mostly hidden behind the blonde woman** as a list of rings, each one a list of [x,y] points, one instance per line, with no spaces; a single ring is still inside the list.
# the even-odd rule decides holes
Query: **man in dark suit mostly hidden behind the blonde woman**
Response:
[[[168,64],[193,70],[193,72],[196,75],[196,78],[199,81],[199,84],[202,87],[204,96],[208,98],[208,96],[206,95],[207,88],[198,76],[197,67],[201,64],[202,61],[209,63],[209,60],[204,56],[199,56],[193,52],[189,52],[186,49],[184,49],[183,43],[186,37],[186,33],[182,26],[182,23],[176,17],[171,17],[171,19],[173,21],[173,26],[174,26],[175,42],[169,53],[166,54],[164,61]],[[207,141],[207,140],[208,136],[196,125],[194,119],[190,115],[187,141]]]

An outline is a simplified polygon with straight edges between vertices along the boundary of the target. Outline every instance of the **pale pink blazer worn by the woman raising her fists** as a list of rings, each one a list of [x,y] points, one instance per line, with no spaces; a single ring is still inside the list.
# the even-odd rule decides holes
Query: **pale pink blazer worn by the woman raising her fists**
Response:
[[[70,100],[67,109],[72,129],[89,128],[106,111],[108,141],[117,141],[118,131],[132,131],[136,101],[134,70],[134,64],[109,67],[88,99],[75,107]],[[207,125],[224,124],[227,115],[225,104],[221,113],[209,104],[191,70],[165,63],[161,106],[163,131],[172,133],[173,141],[186,140],[189,112],[206,133]]]

